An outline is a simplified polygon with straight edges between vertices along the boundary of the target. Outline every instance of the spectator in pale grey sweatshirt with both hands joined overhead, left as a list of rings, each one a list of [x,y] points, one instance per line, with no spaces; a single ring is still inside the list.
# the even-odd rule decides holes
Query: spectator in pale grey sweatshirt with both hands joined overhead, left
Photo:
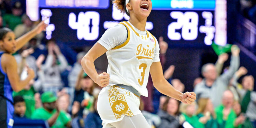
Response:
[[[45,64],[42,65],[41,69],[44,71],[44,81],[42,81],[43,91],[57,91],[63,87],[60,73],[64,71],[68,62],[62,55],[59,47],[55,44],[55,41],[49,40],[47,42],[48,56],[46,57]],[[58,65],[58,61],[59,65]]]

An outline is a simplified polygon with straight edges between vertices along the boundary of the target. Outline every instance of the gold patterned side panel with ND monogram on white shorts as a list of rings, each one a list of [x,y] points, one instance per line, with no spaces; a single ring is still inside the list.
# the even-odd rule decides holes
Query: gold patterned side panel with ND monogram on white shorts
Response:
[[[119,93],[117,90],[121,89],[120,87],[113,86],[109,89],[109,103],[111,105],[112,111],[115,114],[116,119],[121,118],[122,115],[133,116],[126,100],[125,95]]]

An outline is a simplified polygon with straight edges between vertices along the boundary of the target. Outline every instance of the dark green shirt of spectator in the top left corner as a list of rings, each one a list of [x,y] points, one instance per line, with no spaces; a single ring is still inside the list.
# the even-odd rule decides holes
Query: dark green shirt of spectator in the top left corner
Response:
[[[20,16],[14,16],[13,14],[5,14],[5,15],[3,15],[3,22],[6,25],[9,25],[9,28],[11,30],[14,30],[14,28],[17,25],[22,24],[22,19]]]

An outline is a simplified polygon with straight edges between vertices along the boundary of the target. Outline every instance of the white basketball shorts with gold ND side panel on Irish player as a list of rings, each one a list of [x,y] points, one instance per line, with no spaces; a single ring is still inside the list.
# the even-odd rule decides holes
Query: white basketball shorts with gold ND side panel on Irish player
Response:
[[[132,92],[118,86],[106,86],[99,93],[97,110],[104,127],[121,121],[124,116],[142,114],[139,110],[140,99]]]

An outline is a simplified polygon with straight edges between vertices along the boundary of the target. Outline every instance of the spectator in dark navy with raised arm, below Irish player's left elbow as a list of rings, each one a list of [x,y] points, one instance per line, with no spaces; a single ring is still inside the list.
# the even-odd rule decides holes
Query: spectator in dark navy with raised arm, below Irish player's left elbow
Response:
[[[94,101],[93,91],[95,86],[96,84],[93,82],[93,80],[86,73],[84,73],[83,70],[81,70],[76,82],[73,103],[73,105],[79,103],[81,107],[78,113],[72,113],[72,115],[85,117],[89,114]]]

